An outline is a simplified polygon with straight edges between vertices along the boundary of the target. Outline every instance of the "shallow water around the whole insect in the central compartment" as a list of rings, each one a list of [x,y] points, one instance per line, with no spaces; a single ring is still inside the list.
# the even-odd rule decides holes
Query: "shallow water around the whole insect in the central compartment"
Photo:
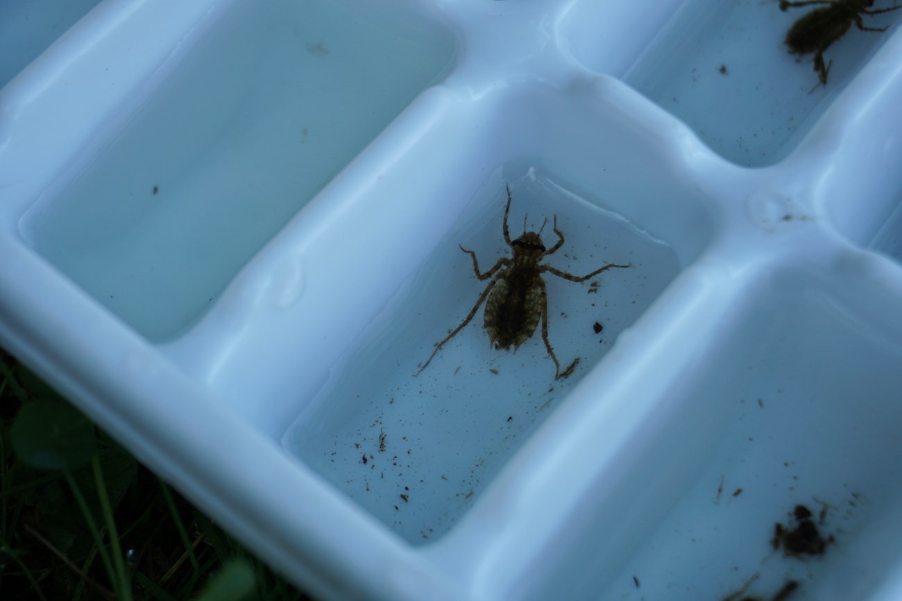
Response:
[[[549,248],[557,215],[566,241],[543,262],[579,276],[609,262],[633,266],[581,284],[544,275],[549,341],[562,369],[580,358],[574,374],[555,380],[540,326],[516,353],[492,350],[480,307],[414,375],[488,283],[476,279],[458,244],[474,250],[483,271],[511,255],[502,238],[506,193],[492,189],[465,211],[286,435],[292,453],[410,542],[445,533],[676,276],[667,244],[535,174],[511,182],[511,238],[523,232],[524,219],[529,231],[548,219],[541,236]]]

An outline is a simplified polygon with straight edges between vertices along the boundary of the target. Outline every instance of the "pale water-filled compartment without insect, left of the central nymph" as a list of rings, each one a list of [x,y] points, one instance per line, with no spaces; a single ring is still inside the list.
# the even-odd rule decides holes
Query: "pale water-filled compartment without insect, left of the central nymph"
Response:
[[[23,236],[138,332],[172,339],[441,74],[451,44],[431,33],[377,7],[230,4]]]

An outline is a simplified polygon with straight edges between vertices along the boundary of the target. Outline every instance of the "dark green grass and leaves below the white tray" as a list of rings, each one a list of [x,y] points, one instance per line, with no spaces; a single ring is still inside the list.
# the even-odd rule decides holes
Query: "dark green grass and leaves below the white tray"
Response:
[[[0,598],[306,600],[0,350]]]

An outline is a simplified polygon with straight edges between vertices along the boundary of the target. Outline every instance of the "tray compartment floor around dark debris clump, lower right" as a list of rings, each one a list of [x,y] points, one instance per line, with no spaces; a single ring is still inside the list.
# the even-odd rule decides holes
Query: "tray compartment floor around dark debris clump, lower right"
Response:
[[[558,565],[529,571],[554,576],[530,578],[523,598],[726,598],[756,575],[750,594],[793,579],[799,598],[870,598],[888,575],[856,577],[862,558],[886,566],[902,554],[891,536],[864,532],[902,492],[899,323],[872,319],[858,297],[896,302],[880,268],[756,278],[748,310],[696,359],[701,378],[679,382],[643,424],[652,432],[607,466],[584,507],[594,518]],[[835,539],[823,559],[770,544],[796,504]]]

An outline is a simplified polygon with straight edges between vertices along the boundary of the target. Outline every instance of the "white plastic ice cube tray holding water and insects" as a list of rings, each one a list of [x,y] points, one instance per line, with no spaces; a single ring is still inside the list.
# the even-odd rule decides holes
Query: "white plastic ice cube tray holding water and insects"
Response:
[[[0,341],[324,598],[897,599],[902,10],[826,86],[810,10],[107,0],[0,91]],[[415,376],[506,186],[632,267]]]

